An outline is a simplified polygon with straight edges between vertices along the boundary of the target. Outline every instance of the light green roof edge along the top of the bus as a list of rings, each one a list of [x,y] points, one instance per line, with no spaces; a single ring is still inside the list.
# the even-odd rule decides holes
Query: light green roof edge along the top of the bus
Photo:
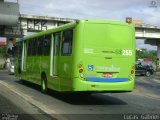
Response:
[[[122,26],[132,26],[133,27],[132,24],[128,24],[128,23],[120,22],[120,21],[112,21],[112,20],[79,20],[79,21],[75,21],[75,22],[72,22],[72,23],[68,23],[68,24],[64,24],[64,25],[58,26],[56,28],[48,29],[46,31],[42,31],[42,32],[30,35],[30,36],[26,36],[26,37],[24,37],[24,39],[27,40],[27,39],[31,39],[31,38],[35,38],[35,37],[40,37],[40,36],[43,36],[43,35],[46,35],[46,34],[51,34],[53,32],[58,32],[58,31],[61,31],[61,30],[64,30],[64,29],[72,28],[72,27],[75,27],[77,23],[97,23],[97,24],[114,24],[114,25],[117,24],[117,25],[122,25]]]

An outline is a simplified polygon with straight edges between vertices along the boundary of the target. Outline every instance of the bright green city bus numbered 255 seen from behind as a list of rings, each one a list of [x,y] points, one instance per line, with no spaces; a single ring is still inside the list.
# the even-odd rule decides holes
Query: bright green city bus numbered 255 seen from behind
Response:
[[[80,20],[17,43],[15,75],[42,92],[130,92],[135,29],[124,22]]]

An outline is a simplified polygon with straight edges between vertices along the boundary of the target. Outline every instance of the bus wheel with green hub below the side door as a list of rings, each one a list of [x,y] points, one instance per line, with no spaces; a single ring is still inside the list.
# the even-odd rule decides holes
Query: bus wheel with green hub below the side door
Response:
[[[46,75],[42,75],[41,78],[41,91],[42,93],[47,93],[47,77]]]

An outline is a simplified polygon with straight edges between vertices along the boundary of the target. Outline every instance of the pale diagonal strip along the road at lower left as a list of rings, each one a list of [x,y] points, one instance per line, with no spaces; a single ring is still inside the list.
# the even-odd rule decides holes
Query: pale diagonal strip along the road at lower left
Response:
[[[32,96],[27,95],[19,90],[17,90],[17,88],[15,88],[12,85],[9,85],[6,82],[0,81],[0,84],[4,85],[5,87],[7,87],[9,90],[11,90],[12,92],[16,93],[17,95],[19,95],[20,97],[22,97],[23,99],[25,99],[27,102],[29,102],[30,104],[36,106],[37,108],[41,109],[43,112],[45,112],[46,114],[51,115],[52,117],[57,117],[58,119],[62,119],[62,120],[68,120],[67,118],[65,118],[64,116],[60,115],[60,113],[58,113],[57,111],[49,108],[49,106],[44,105],[42,102],[36,101],[35,99],[32,98]]]

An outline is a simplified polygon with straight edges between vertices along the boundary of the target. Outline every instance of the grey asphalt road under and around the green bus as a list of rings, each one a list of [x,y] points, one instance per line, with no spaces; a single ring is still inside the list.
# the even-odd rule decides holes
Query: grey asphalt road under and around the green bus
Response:
[[[1,118],[18,115],[19,118],[43,120],[130,119],[144,114],[159,115],[160,80],[157,77],[138,76],[131,93],[78,95],[50,90],[45,95],[39,86],[22,83],[6,71],[0,71],[0,114]]]

